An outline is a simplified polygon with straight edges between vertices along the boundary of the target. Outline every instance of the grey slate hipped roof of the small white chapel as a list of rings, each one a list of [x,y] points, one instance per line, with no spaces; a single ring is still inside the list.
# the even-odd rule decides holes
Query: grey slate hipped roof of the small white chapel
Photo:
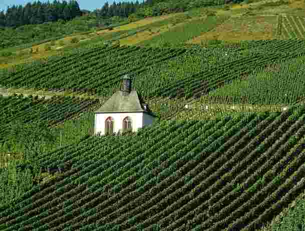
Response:
[[[156,116],[154,113],[148,112],[142,108],[136,90],[131,90],[130,93],[121,90],[115,92],[104,105],[95,112],[146,112]]]

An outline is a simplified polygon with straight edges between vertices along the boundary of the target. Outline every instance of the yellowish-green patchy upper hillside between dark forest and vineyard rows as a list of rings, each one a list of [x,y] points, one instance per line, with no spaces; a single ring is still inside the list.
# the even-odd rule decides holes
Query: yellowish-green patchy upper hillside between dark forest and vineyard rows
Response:
[[[148,13],[160,3],[162,2],[155,2],[152,5],[144,4],[138,10],[144,8],[149,10],[146,10],[147,12],[145,11],[143,14],[137,14],[135,17],[132,14],[128,18],[122,17],[122,13],[114,15],[113,13],[121,12],[118,10],[120,7],[125,7],[124,5],[118,4],[116,6],[111,5],[110,8],[112,7],[113,9],[110,10],[108,8],[109,12],[107,11],[106,14],[105,10],[107,7],[81,17],[76,17],[67,22],[58,21],[47,24],[26,25],[28,26],[27,29],[23,29],[22,26],[18,27],[8,33],[8,36],[11,36],[12,33],[19,34],[18,37],[20,39],[18,41],[22,45],[2,50],[3,56],[0,57],[0,67],[30,62],[50,55],[58,55],[71,48],[84,47],[86,44],[100,43],[101,41],[110,43],[115,41],[121,44],[153,44],[153,41],[158,41],[155,45],[169,46],[172,44],[171,39],[183,37],[183,39],[189,39],[184,42],[186,46],[190,44],[201,44],[203,46],[221,45],[223,47],[230,44],[239,44],[241,40],[248,39],[289,38],[290,35],[287,35],[283,26],[286,26],[292,36],[294,36],[294,33],[297,34],[297,37],[303,36],[302,17],[305,13],[302,9],[305,6],[299,0],[289,2],[281,0],[274,2],[249,1],[242,2],[241,4],[230,3],[196,8],[193,5],[182,11],[179,8],[180,6],[176,7],[174,4],[170,7],[166,6],[164,12],[158,12],[153,15]],[[179,1],[177,5],[180,3],[183,4],[185,2]],[[189,3],[191,4],[191,2]],[[201,20],[202,23],[200,24],[200,18],[202,19],[206,16],[217,16],[216,18],[206,18],[207,21],[214,21],[214,27],[212,27],[213,23],[207,24],[205,27],[205,20]],[[291,26],[286,20],[283,20],[286,16],[287,18],[293,16],[290,22]],[[170,17],[170,20],[168,20],[168,17]],[[224,21],[222,21],[223,18],[225,18]],[[156,23],[155,19],[161,20]],[[149,22],[150,20],[151,22]],[[132,23],[126,24],[131,21]],[[143,26],[143,22],[145,26]],[[196,27],[192,31],[187,29],[188,26],[184,24],[192,25],[191,22],[196,22],[200,30],[196,29]],[[121,27],[119,26],[120,24],[126,24],[126,26]],[[69,29],[63,31],[60,29],[62,26]],[[187,31],[184,31],[184,28]],[[52,34],[48,35],[49,31],[52,31]],[[55,31],[57,31],[56,35]],[[176,36],[172,36],[171,38],[166,36],[166,38],[162,35],[166,31],[175,33]],[[69,36],[68,34],[71,35],[72,32],[74,33],[73,36]],[[189,34],[186,35],[185,32]],[[169,35],[170,33],[165,33],[164,35]],[[200,34],[196,35],[198,33]],[[31,43],[25,43],[27,41],[23,39],[29,37],[31,34],[42,37],[35,41],[33,40]],[[190,34],[193,34],[193,37]],[[157,39],[154,38],[155,36]],[[71,43],[72,38],[75,43]],[[151,39],[151,42],[146,41]],[[183,39],[180,39],[179,42],[183,43]],[[11,39],[11,41],[13,42],[14,40]],[[176,45],[177,42],[174,43]]]

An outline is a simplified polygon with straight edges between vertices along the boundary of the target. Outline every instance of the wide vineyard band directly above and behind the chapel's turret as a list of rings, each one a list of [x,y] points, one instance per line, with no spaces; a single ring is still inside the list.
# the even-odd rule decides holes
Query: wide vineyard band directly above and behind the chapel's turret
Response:
[[[208,49],[97,46],[2,70],[0,85],[111,96],[128,73],[142,96],[200,97],[258,67],[301,57],[304,47],[305,40],[250,41],[236,48]]]

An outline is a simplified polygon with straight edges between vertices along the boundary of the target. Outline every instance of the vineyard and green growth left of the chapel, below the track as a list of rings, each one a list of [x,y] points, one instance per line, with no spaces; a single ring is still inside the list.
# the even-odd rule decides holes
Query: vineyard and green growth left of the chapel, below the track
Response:
[[[38,153],[77,143],[91,133],[90,111],[100,106],[98,99],[1,95],[0,205],[33,186]]]

